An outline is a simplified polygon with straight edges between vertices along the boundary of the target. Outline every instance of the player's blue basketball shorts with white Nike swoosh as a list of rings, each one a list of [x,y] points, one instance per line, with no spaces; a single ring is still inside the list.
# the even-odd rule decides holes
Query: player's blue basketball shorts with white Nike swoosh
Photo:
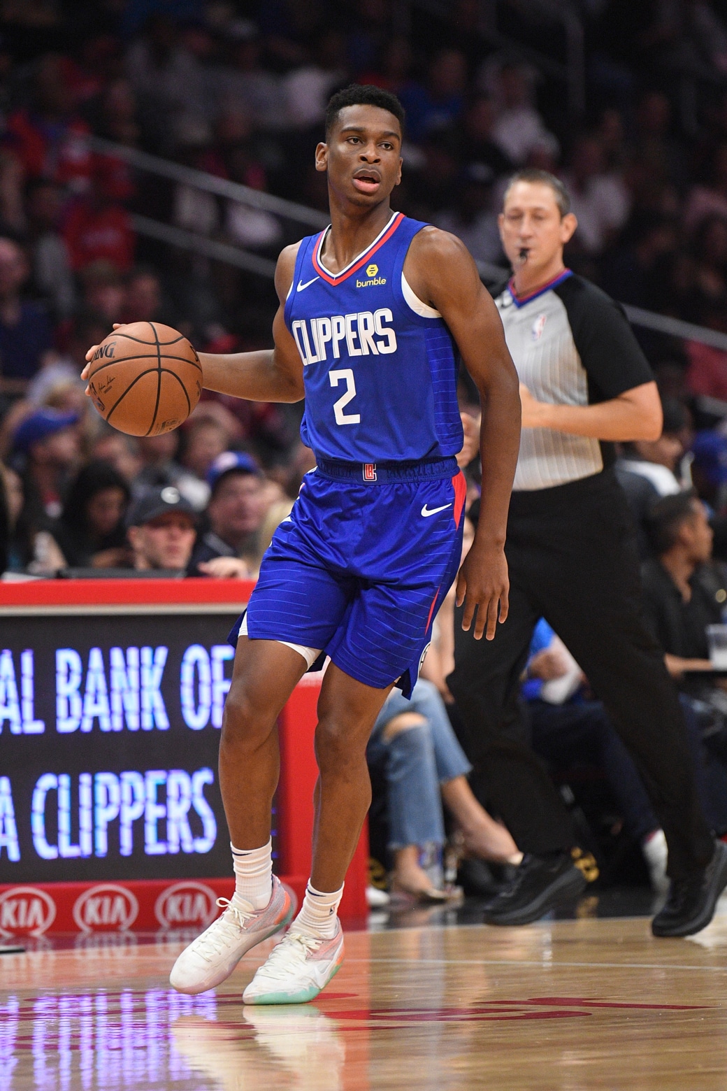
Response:
[[[465,493],[453,458],[319,460],[263,558],[247,636],[322,649],[359,682],[409,696],[459,568]]]

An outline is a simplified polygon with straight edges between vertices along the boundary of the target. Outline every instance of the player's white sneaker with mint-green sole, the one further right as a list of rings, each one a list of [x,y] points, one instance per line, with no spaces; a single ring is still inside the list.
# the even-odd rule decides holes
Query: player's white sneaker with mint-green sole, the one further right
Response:
[[[326,987],[342,962],[340,921],[331,939],[289,932],[257,970],[242,999],[245,1004],[306,1004]]]

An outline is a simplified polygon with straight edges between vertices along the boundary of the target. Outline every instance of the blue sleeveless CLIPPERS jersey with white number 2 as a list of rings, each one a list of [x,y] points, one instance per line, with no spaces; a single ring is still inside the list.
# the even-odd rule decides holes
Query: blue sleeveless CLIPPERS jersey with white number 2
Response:
[[[301,241],[284,315],[304,365],[301,439],[318,458],[414,461],[462,447],[451,334],[441,317],[417,314],[402,288],[409,245],[425,226],[395,213],[337,275],[320,261],[326,231]]]

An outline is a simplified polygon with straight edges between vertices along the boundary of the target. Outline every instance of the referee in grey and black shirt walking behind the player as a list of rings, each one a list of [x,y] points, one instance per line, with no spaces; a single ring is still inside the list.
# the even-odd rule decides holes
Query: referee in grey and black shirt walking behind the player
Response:
[[[499,220],[516,272],[494,295],[523,425],[507,530],[510,607],[493,642],[456,626],[448,679],[482,789],[525,853],[485,920],[528,924],[585,884],[570,855],[570,816],[528,745],[519,700],[545,618],[608,709],[664,828],[671,884],[652,931],[684,936],[714,914],[727,844],[702,815],[678,697],[642,623],[633,526],[613,470],[614,442],[657,439],[662,410],[620,308],[564,265],[577,227],[569,207],[557,178],[522,170]]]

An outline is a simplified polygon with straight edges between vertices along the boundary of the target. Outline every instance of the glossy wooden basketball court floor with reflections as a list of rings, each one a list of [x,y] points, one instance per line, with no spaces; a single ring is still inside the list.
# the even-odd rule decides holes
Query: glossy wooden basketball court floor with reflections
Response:
[[[646,918],[420,916],[349,932],[300,1007],[242,1005],[267,947],[184,997],[167,983],[179,936],[31,940],[0,958],[0,1091],[727,1091],[724,911],[692,940],[654,939]]]

